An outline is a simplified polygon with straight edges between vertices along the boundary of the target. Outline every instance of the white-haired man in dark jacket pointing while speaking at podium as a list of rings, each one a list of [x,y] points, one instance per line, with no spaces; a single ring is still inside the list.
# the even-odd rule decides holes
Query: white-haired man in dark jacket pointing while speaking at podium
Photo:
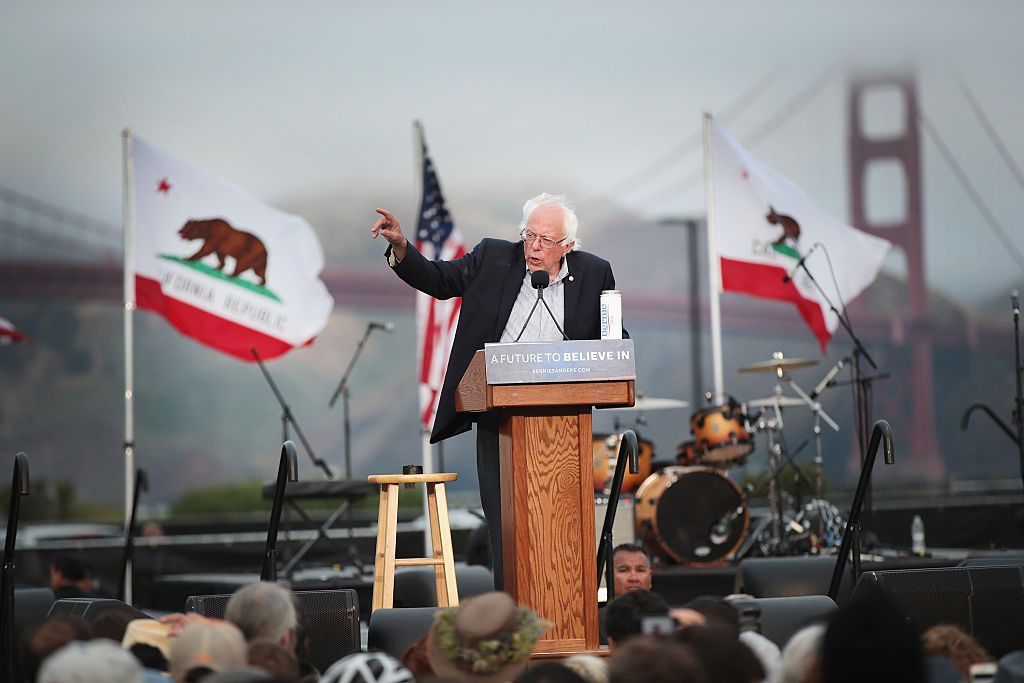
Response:
[[[561,195],[544,193],[523,205],[519,242],[484,239],[454,261],[428,261],[406,239],[393,215],[383,209],[377,213],[382,217],[374,225],[373,237],[388,241],[385,256],[399,278],[437,299],[462,297],[430,442],[461,434],[474,420],[477,423],[480,504],[487,519],[495,588],[502,590],[498,417],[494,413],[457,413],[456,387],[473,354],[485,343],[560,341],[559,328],[567,339],[599,339],[601,292],[615,289],[615,279],[607,261],[578,250],[579,221]],[[531,273],[539,271],[548,274],[544,300],[554,321],[543,306],[529,314],[538,299]],[[625,331],[623,336],[628,337]]]

